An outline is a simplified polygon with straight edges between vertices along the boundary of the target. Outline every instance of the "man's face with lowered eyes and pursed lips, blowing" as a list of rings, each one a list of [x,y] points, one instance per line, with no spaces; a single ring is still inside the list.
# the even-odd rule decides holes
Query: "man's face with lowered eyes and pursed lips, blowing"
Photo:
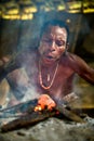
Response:
[[[44,63],[55,62],[66,50],[67,31],[59,26],[49,26],[43,33],[39,52]]]

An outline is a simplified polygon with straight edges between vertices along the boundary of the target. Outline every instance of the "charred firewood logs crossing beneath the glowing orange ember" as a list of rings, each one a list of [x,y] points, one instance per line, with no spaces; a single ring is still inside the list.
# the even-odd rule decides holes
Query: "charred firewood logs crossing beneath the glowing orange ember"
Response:
[[[77,123],[85,123],[80,116],[76,115],[71,111],[67,110],[63,103],[56,103],[56,107],[52,111],[43,110],[40,105],[35,106],[35,108],[30,111],[27,110],[27,114],[21,116],[17,119],[14,119],[1,127],[2,132],[11,131],[14,129],[19,129],[22,127],[32,126],[41,120],[44,120],[49,117],[55,116],[57,112],[64,114],[69,119],[77,121]]]

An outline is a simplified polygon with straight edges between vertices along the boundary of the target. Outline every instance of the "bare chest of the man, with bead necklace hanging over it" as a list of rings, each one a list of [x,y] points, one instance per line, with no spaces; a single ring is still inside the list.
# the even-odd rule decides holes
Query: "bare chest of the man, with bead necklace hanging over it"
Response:
[[[68,67],[58,66],[55,69],[36,69],[28,74],[30,85],[38,92],[59,97],[66,94],[72,87],[73,72]]]

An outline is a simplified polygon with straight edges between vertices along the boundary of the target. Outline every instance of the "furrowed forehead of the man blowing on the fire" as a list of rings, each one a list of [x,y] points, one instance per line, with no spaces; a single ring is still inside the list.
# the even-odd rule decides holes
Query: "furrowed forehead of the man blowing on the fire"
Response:
[[[67,30],[65,27],[49,25],[43,35],[67,36]]]

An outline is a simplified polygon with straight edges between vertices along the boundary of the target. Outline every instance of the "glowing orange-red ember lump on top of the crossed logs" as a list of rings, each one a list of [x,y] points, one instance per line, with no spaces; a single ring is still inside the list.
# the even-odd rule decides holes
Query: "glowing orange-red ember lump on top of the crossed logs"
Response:
[[[48,110],[53,110],[56,106],[56,103],[49,97],[48,94],[42,94],[39,97],[38,105],[36,106],[35,111],[42,111],[45,107]]]

